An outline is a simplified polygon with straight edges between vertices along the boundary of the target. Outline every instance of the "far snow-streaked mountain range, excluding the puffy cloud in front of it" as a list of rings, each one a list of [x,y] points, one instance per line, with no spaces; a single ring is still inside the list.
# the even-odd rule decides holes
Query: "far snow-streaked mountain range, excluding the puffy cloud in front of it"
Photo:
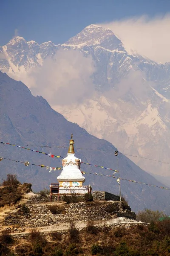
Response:
[[[83,102],[69,106],[56,103],[53,108],[126,154],[169,163],[170,62],[160,64],[129,54],[110,29],[91,24],[65,44],[49,41],[39,45],[22,37],[13,38],[0,47],[0,70],[15,77],[41,67],[60,49],[92,56],[96,93]],[[170,176],[169,165],[130,159],[148,172]]]

